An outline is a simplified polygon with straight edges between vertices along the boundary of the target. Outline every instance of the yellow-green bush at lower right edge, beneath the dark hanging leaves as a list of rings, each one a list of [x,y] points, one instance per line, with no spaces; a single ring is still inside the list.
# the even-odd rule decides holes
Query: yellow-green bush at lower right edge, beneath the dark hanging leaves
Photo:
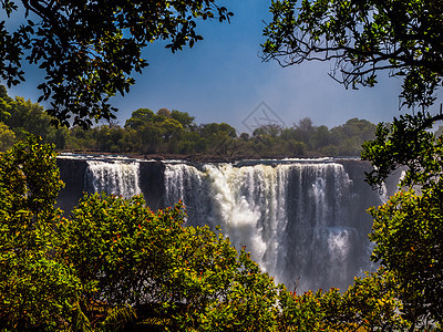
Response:
[[[401,190],[370,214],[374,218],[373,259],[394,272],[405,317],[416,324],[443,322],[443,188],[441,181]]]

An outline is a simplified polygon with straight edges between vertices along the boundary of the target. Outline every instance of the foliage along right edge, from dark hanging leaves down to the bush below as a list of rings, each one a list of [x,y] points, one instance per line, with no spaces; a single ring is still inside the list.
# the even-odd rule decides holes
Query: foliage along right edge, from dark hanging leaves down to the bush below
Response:
[[[374,218],[370,238],[377,245],[372,259],[398,278],[404,314],[415,325],[443,320],[443,145],[429,131],[432,123],[430,114],[418,113],[400,116],[391,126],[380,124],[377,138],[365,143],[362,153],[375,166],[368,174],[373,186],[380,186],[392,172],[404,172],[401,190],[383,206],[370,209]]]

